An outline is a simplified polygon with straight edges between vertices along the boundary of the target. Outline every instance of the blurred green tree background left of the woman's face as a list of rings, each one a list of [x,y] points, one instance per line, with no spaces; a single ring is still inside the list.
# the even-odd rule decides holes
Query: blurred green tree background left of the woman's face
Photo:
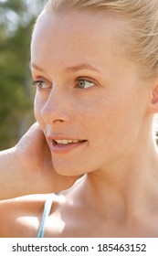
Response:
[[[0,150],[16,144],[34,122],[29,48],[44,2],[0,0]]]

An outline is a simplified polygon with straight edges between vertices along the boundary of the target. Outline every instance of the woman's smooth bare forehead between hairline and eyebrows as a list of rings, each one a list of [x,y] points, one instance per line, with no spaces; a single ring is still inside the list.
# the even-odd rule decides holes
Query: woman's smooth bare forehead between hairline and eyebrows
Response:
[[[44,13],[33,33],[31,59],[39,65],[46,59],[50,65],[76,60],[101,65],[103,57],[109,61],[122,54],[123,44],[121,20],[111,14]]]

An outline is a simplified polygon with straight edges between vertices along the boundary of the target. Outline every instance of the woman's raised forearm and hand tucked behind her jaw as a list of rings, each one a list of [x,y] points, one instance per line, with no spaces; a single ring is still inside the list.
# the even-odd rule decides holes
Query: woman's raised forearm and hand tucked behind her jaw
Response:
[[[55,172],[44,133],[37,123],[15,147],[0,153],[1,200],[65,190],[77,178]]]

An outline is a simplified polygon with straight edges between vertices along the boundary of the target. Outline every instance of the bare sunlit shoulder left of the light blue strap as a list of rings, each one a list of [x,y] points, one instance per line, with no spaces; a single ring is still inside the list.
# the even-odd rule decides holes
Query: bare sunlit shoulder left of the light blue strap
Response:
[[[0,237],[36,237],[47,195],[0,201]]]

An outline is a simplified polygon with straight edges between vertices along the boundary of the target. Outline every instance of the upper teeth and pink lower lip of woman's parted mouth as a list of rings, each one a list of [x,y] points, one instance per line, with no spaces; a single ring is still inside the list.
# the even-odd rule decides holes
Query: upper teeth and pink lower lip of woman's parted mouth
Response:
[[[87,140],[53,139],[50,143],[50,149],[56,154],[66,154],[87,142]]]

